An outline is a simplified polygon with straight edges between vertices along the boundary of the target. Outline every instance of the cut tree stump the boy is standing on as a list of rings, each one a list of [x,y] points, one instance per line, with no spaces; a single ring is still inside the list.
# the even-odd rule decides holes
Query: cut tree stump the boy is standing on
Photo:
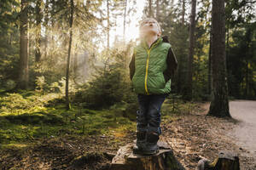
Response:
[[[160,150],[152,156],[133,154],[133,145],[126,144],[118,150],[113,157],[111,170],[184,170],[170,146],[165,142],[158,142]]]

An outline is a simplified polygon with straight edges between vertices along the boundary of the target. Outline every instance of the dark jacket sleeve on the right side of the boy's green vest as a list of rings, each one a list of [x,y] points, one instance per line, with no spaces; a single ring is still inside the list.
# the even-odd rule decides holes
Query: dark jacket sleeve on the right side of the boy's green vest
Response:
[[[172,48],[169,48],[168,54],[167,54],[167,69],[164,71],[164,77],[166,82],[168,82],[175,74],[175,71],[177,70],[177,59],[175,57],[175,54],[172,51]]]

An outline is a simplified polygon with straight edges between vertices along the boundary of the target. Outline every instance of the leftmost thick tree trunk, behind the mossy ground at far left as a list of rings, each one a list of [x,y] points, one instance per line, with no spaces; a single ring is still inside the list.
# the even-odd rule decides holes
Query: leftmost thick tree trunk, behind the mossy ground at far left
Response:
[[[28,88],[28,7],[27,1],[21,0],[21,10],[20,10],[20,75],[19,75],[19,87],[26,89]]]

